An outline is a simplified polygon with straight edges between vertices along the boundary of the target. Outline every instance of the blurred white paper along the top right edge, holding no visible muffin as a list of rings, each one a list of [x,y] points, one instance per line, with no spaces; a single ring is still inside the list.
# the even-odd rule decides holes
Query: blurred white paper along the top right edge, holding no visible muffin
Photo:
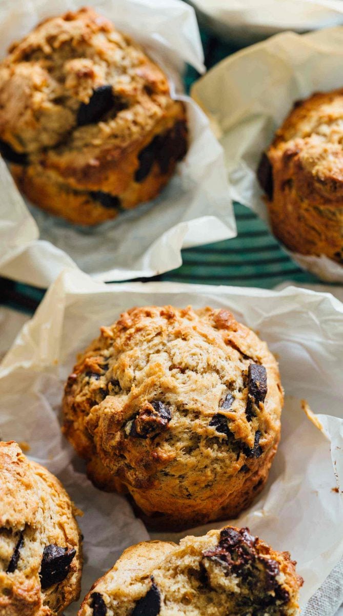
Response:
[[[284,30],[341,25],[341,0],[189,0],[201,23],[230,43],[256,43]]]

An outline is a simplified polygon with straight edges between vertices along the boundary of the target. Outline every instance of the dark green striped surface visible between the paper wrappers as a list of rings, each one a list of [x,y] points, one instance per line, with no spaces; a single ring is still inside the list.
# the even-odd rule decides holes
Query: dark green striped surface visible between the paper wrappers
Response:
[[[202,42],[207,68],[237,51],[205,32],[202,32]],[[187,91],[197,76],[194,69],[187,70]],[[240,203],[235,203],[234,209],[238,229],[236,238],[183,250],[181,267],[152,280],[261,288],[273,288],[287,280],[297,283],[319,282],[317,277],[304,272],[290,259],[269,232],[266,223],[256,214]],[[33,312],[43,295],[44,291],[32,286],[0,280],[2,302],[17,309]]]

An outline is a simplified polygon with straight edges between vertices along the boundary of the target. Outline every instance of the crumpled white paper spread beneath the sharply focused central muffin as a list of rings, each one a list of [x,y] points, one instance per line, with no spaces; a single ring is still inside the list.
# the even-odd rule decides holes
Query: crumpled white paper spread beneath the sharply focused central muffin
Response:
[[[100,325],[128,307],[168,303],[229,307],[278,357],[286,391],[282,441],[266,488],[238,523],[275,548],[291,551],[305,579],[304,606],[343,553],[343,304],[330,294],[176,283],[103,285],[66,270],[0,366],[1,437],[28,442],[30,455],[63,480],[84,510],[84,594],[125,546],[148,535],[124,496],[92,487],[84,464],[61,436],[63,383],[76,353],[97,336]],[[303,398],[318,413],[321,427],[305,415]],[[333,489],[337,486],[341,494]],[[154,537],[178,540],[187,533]],[[75,615],[76,607],[67,614]]]

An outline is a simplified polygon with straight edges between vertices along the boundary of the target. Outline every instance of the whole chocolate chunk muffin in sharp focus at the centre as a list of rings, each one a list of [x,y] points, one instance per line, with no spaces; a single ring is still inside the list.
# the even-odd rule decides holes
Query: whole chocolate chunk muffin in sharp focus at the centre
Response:
[[[228,310],[133,308],[79,356],[63,431],[104,490],[162,529],[234,518],[266,482],[283,392],[267,345]]]

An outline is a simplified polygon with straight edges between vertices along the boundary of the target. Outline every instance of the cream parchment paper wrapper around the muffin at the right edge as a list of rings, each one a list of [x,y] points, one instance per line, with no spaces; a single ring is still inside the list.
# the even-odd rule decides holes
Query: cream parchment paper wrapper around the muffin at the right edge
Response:
[[[343,86],[342,60],[342,27],[286,32],[228,57],[194,84],[192,95],[224,147],[232,198],[266,221],[256,179],[261,153],[296,100]],[[323,280],[343,283],[342,265],[328,257],[288,253]]]

